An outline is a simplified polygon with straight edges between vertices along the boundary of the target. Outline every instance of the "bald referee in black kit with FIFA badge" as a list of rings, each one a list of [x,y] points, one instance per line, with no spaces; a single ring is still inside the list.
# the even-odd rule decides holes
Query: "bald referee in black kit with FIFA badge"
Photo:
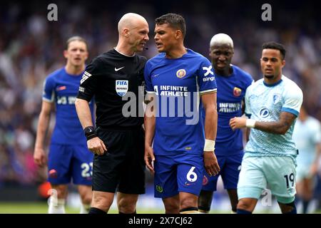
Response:
[[[93,158],[93,199],[89,214],[106,214],[117,191],[120,214],[136,213],[138,195],[145,193],[143,117],[125,118],[122,96],[143,85],[146,58],[136,55],[148,41],[143,16],[123,15],[118,22],[118,44],[91,61],[81,79],[76,110]],[[88,102],[95,95],[96,130]],[[141,107],[139,107],[141,105]],[[136,103],[136,111],[143,103]]]

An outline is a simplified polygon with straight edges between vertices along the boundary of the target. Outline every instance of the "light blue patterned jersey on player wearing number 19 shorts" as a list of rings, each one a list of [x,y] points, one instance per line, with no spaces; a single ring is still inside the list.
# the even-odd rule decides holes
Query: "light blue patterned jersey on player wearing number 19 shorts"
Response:
[[[253,120],[278,121],[281,112],[299,115],[302,105],[302,90],[289,78],[282,76],[274,85],[267,85],[260,79],[248,87],[245,93],[245,114]],[[295,121],[285,135],[265,133],[252,128],[245,152],[254,156],[297,155],[292,132]]]

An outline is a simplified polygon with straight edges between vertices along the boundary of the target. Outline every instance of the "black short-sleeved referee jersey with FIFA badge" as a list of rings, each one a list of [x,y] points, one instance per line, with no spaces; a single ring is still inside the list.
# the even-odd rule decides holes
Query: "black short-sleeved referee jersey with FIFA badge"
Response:
[[[95,95],[96,126],[117,128],[143,124],[143,117],[138,117],[138,110],[143,110],[143,100],[138,101],[138,93],[143,93],[139,86],[143,86],[145,63],[146,57],[124,56],[113,48],[94,58],[86,67],[77,98],[89,102]],[[136,95],[136,115],[124,117],[123,105],[131,99],[122,98],[128,92]],[[127,110],[130,112],[131,108]]]

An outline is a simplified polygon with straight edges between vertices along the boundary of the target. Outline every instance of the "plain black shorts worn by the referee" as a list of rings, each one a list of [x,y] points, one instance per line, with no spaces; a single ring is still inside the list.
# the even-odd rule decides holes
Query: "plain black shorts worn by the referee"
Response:
[[[93,191],[145,193],[143,128],[97,128],[107,147],[93,158]]]

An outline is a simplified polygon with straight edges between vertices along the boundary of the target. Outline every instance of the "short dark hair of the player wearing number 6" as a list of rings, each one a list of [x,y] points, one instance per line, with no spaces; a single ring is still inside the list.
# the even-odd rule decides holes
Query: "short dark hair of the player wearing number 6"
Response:
[[[186,25],[185,19],[183,16],[179,14],[165,14],[163,16],[158,17],[155,19],[155,24],[162,25],[162,24],[169,24],[172,28],[178,29],[182,31],[183,38],[186,34]]]

